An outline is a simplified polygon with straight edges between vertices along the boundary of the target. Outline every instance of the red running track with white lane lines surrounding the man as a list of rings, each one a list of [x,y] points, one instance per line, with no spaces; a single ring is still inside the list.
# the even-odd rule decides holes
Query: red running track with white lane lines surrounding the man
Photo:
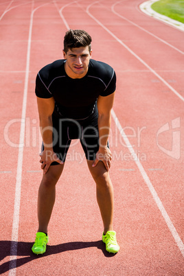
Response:
[[[143,14],[139,3],[0,3],[4,275],[184,275],[184,34]],[[57,185],[47,253],[31,251],[42,175],[34,82],[41,67],[62,58],[69,27],[87,30],[93,58],[117,73],[110,137],[117,255],[104,250],[95,185],[74,142]]]

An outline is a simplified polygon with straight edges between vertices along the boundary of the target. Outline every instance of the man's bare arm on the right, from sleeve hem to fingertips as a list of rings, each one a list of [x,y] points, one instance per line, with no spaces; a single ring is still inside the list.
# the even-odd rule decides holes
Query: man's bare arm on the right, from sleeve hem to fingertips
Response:
[[[111,167],[112,159],[111,150],[107,147],[107,141],[111,128],[111,109],[113,108],[114,97],[115,92],[106,97],[99,96],[97,99],[100,146],[93,167],[97,165],[98,161],[103,161],[106,170]]]

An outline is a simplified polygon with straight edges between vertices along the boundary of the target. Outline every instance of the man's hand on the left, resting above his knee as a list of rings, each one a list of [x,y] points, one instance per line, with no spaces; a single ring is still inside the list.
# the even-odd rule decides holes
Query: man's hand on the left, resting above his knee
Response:
[[[63,162],[58,159],[57,154],[53,150],[43,150],[41,154],[39,154],[41,157],[40,163],[41,164],[41,169],[43,170],[44,174],[47,174],[49,170],[49,166],[51,165],[52,162],[58,162],[61,165]]]

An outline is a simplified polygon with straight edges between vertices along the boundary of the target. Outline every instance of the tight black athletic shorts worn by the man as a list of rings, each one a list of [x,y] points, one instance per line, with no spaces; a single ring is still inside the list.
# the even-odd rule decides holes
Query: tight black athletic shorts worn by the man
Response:
[[[58,158],[65,162],[67,151],[72,139],[80,139],[87,160],[95,160],[99,149],[99,132],[97,115],[92,114],[87,119],[73,120],[58,118],[52,115],[53,122],[53,150]],[[42,150],[43,150],[42,146]],[[51,165],[58,165],[53,162]]]

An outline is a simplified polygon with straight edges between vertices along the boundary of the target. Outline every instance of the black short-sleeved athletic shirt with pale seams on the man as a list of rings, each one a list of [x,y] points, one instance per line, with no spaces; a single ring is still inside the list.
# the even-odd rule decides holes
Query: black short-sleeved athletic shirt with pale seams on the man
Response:
[[[58,117],[86,119],[94,113],[99,95],[115,91],[115,71],[106,63],[91,59],[87,75],[73,79],[65,72],[65,61],[56,60],[38,72],[36,96],[54,97],[54,113]]]

